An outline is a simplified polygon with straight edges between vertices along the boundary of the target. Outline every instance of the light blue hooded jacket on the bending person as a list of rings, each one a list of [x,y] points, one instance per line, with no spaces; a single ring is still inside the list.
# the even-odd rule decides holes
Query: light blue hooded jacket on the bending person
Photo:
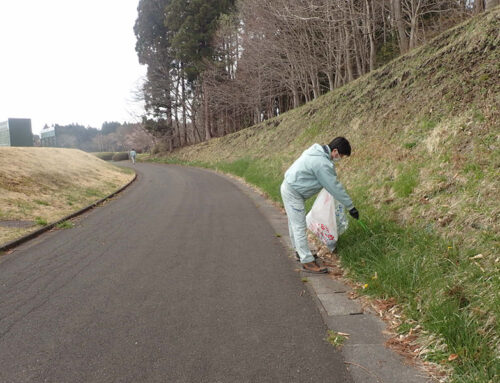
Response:
[[[304,151],[286,171],[285,182],[304,199],[325,188],[348,210],[354,207],[351,197],[337,179],[331,150],[327,145],[314,144]]]

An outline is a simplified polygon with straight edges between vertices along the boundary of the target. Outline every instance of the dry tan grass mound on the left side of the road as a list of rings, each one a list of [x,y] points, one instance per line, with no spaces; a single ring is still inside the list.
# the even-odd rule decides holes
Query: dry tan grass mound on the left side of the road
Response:
[[[80,150],[0,148],[0,244],[102,199],[133,177],[133,171]],[[34,226],[8,227],[2,221]]]

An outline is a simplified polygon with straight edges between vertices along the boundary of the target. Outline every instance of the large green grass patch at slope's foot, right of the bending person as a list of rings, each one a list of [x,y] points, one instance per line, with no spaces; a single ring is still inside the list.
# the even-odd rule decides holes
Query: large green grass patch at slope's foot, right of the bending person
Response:
[[[460,248],[418,227],[401,227],[384,218],[382,211],[365,207],[361,212],[370,230],[354,222],[339,239],[339,253],[350,276],[368,284],[366,294],[396,298],[407,320],[442,339],[445,356],[458,355],[447,362],[455,368],[455,381],[488,382],[498,373],[498,324],[485,326],[484,316],[497,310],[498,275],[495,278],[494,270],[472,275],[471,261]],[[478,289],[485,292],[481,298]],[[427,358],[437,363],[446,359],[443,351],[432,350]]]

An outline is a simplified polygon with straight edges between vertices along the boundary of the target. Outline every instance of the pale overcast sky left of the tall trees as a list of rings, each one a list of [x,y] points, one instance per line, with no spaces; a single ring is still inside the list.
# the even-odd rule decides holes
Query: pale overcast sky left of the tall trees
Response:
[[[0,121],[134,121],[139,0],[0,0]]]

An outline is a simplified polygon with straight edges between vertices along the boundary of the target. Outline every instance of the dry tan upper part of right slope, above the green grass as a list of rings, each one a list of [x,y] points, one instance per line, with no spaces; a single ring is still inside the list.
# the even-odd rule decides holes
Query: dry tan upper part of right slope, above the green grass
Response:
[[[498,229],[499,14],[454,28],[302,108],[174,155],[261,159],[279,173],[311,143],[345,135],[355,154],[341,172],[348,187],[366,184],[370,203],[398,204],[402,222],[421,217],[459,236],[471,227],[467,242],[477,245]]]

